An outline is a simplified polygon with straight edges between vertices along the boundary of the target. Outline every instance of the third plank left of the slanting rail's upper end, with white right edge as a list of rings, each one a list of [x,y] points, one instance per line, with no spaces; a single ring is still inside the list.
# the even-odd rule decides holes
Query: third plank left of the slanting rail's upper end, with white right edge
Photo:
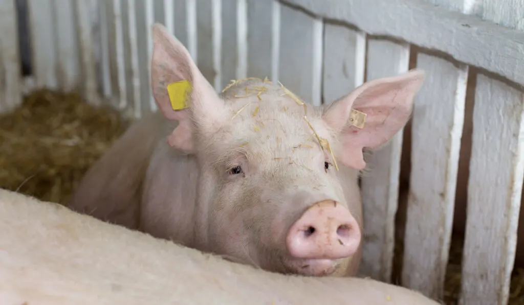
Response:
[[[220,13],[220,0],[196,0],[196,62],[204,77],[219,90],[222,24],[217,13]]]

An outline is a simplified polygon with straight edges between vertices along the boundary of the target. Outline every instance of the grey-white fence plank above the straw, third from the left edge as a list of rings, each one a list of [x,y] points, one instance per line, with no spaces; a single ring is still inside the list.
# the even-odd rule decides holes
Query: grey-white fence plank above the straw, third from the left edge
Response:
[[[78,88],[81,81],[74,3],[70,0],[53,0],[52,5],[56,22],[57,81],[61,90],[70,92]]]

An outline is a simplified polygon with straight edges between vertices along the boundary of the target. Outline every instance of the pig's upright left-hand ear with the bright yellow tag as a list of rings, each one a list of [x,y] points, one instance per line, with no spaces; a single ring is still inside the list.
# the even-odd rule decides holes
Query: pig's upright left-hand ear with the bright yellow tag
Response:
[[[168,142],[174,148],[191,153],[195,130],[205,135],[219,128],[225,115],[224,101],[202,75],[188,50],[163,25],[153,25],[152,40],[152,93],[163,116],[179,122],[168,136]],[[188,81],[190,85],[185,99],[188,107],[173,110],[167,87],[180,81]]]

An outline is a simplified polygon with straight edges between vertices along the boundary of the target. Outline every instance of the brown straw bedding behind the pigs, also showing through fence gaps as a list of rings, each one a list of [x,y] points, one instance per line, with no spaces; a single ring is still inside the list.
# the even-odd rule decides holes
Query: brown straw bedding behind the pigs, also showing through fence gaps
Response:
[[[108,107],[83,103],[77,94],[35,91],[19,108],[0,115],[0,187],[65,204],[85,171],[129,123]],[[397,241],[398,254],[401,246]],[[457,303],[461,246],[462,241],[453,240],[446,304]],[[400,263],[397,258],[395,264]],[[509,304],[524,304],[523,269],[511,280]]]

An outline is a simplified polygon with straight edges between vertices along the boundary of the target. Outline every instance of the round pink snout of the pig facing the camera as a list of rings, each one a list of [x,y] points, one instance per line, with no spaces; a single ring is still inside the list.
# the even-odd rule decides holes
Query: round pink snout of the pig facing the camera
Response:
[[[286,245],[296,258],[338,259],[353,255],[361,230],[344,206],[333,200],[317,202],[291,225]]]

